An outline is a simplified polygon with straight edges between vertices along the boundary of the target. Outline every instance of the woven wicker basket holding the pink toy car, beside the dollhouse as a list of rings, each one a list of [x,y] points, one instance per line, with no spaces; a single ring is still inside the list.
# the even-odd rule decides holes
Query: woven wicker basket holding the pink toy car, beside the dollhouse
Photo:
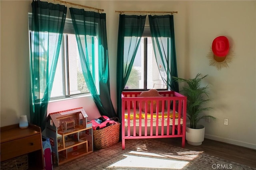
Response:
[[[119,141],[120,123],[100,130],[93,130],[93,145],[96,149],[110,147]]]

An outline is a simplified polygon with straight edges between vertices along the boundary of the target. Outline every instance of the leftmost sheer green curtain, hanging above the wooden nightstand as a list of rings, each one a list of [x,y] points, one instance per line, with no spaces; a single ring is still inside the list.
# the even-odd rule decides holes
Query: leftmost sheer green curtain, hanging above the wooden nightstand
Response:
[[[60,4],[32,2],[30,48],[30,123],[43,131],[56,71],[67,8]]]

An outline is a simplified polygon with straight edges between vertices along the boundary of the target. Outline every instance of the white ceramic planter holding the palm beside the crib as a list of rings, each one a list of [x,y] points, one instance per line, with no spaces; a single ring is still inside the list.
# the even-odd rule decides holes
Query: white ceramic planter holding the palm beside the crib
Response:
[[[188,141],[189,145],[202,145],[204,141],[204,126],[197,125],[197,129],[191,129],[190,124],[186,126],[186,140]]]

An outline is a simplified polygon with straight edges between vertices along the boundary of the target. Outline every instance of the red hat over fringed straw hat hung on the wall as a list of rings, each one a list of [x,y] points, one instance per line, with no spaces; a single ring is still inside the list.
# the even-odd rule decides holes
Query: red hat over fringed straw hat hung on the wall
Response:
[[[232,49],[229,45],[228,38],[225,36],[216,37],[212,41],[212,47],[207,57],[210,59],[210,66],[216,66],[218,70],[222,67],[228,67],[228,63],[233,58]]]

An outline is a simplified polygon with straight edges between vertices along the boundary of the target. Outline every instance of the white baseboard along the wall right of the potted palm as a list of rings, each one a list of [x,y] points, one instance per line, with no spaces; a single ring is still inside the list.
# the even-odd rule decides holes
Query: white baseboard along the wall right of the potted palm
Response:
[[[252,144],[252,143],[246,143],[246,142],[242,142],[242,141],[236,141],[236,140],[232,140],[232,139],[227,139],[227,138],[222,138],[222,137],[217,137],[217,136],[207,135],[207,134],[204,134],[204,138],[212,139],[214,141],[220,141],[220,142],[224,142],[224,143],[230,143],[232,145],[238,145],[241,147],[246,147],[246,148],[256,150],[256,144]]]

